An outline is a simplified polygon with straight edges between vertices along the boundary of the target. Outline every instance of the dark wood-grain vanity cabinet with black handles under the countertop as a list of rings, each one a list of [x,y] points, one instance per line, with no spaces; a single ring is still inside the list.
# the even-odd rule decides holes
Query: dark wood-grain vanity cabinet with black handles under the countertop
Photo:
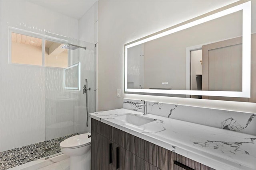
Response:
[[[92,119],[92,170],[214,170]]]

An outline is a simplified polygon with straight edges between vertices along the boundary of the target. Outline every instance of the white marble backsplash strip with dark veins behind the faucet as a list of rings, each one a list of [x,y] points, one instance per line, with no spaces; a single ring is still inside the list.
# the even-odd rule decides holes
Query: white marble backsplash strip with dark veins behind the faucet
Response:
[[[124,99],[123,108],[143,112],[140,100]],[[201,125],[256,135],[256,113],[147,102],[148,113]]]

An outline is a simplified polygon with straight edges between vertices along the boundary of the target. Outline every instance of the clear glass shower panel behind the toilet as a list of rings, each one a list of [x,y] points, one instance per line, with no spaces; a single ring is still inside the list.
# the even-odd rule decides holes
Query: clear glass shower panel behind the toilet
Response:
[[[82,86],[88,79],[88,113],[92,113],[96,110],[95,45],[52,33],[46,33],[45,44],[45,140],[87,133],[90,125],[86,127]]]

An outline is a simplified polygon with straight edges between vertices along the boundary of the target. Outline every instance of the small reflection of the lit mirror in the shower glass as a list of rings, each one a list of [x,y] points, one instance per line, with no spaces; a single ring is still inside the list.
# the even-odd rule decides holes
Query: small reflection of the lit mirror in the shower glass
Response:
[[[65,89],[79,90],[79,63],[64,69]]]

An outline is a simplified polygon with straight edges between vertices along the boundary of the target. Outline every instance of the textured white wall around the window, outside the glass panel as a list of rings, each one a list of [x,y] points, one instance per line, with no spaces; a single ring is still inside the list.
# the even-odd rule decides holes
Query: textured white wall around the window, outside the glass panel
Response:
[[[45,140],[45,68],[8,64],[8,27],[78,39],[78,20],[28,1],[0,1],[0,151]],[[68,25],[68,26],[67,26]]]

